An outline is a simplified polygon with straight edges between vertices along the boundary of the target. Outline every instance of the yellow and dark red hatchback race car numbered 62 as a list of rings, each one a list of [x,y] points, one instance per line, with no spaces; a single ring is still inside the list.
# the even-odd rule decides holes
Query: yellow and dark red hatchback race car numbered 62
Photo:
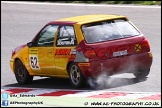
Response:
[[[75,88],[101,73],[131,72],[144,78],[151,65],[145,36],[126,16],[107,14],[49,22],[31,42],[15,48],[10,60],[19,84],[46,76],[69,78]]]

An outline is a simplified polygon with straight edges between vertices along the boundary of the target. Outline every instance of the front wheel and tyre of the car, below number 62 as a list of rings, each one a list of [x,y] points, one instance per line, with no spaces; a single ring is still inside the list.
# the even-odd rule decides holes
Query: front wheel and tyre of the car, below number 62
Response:
[[[29,72],[20,60],[16,60],[15,77],[19,84],[28,84],[33,81],[33,76],[29,75]]]

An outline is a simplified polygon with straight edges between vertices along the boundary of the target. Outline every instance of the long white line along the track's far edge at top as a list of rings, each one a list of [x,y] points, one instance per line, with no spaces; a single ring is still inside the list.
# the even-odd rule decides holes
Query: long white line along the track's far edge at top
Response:
[[[1,3],[32,4],[32,5],[58,5],[58,6],[92,6],[92,7],[126,7],[126,8],[161,8],[161,6],[135,6],[135,5],[109,5],[109,4],[81,4],[81,3],[42,3],[42,2],[19,2],[1,1]]]

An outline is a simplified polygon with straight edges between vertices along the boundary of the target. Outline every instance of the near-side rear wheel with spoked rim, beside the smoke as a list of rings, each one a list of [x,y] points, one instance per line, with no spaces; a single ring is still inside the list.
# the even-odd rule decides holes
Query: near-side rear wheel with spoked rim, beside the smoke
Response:
[[[85,86],[86,79],[83,77],[82,72],[76,63],[70,64],[68,72],[71,85],[74,88],[80,88]]]

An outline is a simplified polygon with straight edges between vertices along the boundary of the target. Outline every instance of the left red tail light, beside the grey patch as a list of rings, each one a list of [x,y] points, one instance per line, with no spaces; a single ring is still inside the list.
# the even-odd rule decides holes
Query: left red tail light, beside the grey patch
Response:
[[[88,59],[96,58],[96,53],[92,48],[86,48],[84,50],[84,56]]]

